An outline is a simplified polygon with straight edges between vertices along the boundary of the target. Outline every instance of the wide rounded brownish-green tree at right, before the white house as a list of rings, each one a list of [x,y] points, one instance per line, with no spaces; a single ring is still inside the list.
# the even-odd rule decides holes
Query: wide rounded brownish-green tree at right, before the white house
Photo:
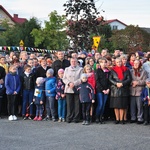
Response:
[[[124,30],[113,32],[111,42],[113,47],[123,49],[125,52],[149,49],[150,34],[138,26],[127,26]]]

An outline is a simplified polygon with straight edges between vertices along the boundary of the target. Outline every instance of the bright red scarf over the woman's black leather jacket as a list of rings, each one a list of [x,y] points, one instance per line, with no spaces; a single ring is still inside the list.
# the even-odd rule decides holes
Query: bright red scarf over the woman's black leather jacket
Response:
[[[125,66],[120,66],[120,67],[114,66],[112,68],[112,70],[114,70],[117,73],[119,80],[123,80],[123,78],[124,78],[123,73],[127,70],[127,67],[125,67]]]

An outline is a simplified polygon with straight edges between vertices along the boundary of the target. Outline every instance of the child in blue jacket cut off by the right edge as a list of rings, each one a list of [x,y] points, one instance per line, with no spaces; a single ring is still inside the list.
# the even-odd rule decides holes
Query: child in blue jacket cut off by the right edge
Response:
[[[146,87],[142,90],[141,99],[144,103],[144,125],[150,121],[150,78],[146,79]]]

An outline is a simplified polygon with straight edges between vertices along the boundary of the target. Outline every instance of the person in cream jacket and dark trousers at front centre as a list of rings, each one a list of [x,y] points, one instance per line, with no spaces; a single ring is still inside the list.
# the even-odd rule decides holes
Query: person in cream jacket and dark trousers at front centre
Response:
[[[81,83],[80,76],[83,69],[77,65],[77,59],[70,59],[70,66],[65,69],[63,82],[65,83],[65,93],[67,102],[67,122],[79,122],[80,119],[80,102],[79,95],[75,86]]]

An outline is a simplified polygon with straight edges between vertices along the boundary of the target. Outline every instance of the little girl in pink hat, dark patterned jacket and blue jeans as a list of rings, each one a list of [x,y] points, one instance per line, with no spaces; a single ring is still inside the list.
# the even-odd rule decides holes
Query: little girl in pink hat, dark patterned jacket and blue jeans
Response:
[[[64,70],[58,70],[58,78],[56,83],[56,100],[58,100],[58,122],[65,122],[66,116],[66,99],[65,99],[65,84],[62,81]]]

